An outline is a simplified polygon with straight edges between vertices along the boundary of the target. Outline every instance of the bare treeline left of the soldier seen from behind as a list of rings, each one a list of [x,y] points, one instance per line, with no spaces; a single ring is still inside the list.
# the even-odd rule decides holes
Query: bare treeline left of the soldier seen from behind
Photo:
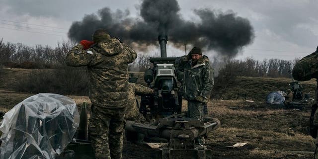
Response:
[[[59,68],[65,65],[65,57],[74,46],[69,41],[58,42],[55,48],[22,43],[4,43],[0,40],[0,65],[8,68],[41,69]]]

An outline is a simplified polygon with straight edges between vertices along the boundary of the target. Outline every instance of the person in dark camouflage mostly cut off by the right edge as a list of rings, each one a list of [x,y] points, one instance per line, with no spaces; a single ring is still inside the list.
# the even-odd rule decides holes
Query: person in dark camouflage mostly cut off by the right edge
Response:
[[[316,52],[301,59],[293,68],[293,78],[296,80],[304,81],[310,79],[317,79],[318,81],[318,47]],[[318,85],[316,88],[316,103],[312,106],[312,113],[310,117],[310,133],[313,138],[316,139],[315,159],[318,159],[318,111],[317,110],[318,99]]]

